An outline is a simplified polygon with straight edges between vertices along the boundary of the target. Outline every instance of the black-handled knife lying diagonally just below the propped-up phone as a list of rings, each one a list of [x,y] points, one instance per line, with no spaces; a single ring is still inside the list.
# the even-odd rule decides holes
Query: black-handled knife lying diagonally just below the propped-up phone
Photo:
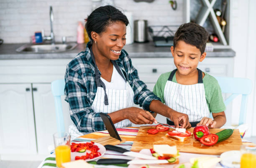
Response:
[[[157,160],[157,158],[155,158],[154,156],[149,156],[149,155],[145,155],[145,154],[138,153],[138,152],[128,151],[127,149],[124,149],[124,148],[121,148],[118,146],[105,145],[105,148],[110,151],[116,151],[116,152],[123,153],[123,155],[126,155],[126,156],[132,156],[132,157],[148,159],[148,160]]]

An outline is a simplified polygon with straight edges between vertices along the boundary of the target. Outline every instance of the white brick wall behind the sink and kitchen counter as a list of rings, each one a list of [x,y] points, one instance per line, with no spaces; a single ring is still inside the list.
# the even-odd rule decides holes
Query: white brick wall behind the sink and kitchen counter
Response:
[[[134,20],[148,20],[148,25],[180,25],[183,20],[183,4],[178,1],[172,10],[169,0],[152,3],[133,0],[115,0],[115,6],[133,12]],[[76,41],[77,22],[83,21],[91,12],[91,0],[0,0],[0,38],[5,43],[28,43],[34,32],[50,33],[49,6],[54,12],[54,35],[56,41],[68,36]]]

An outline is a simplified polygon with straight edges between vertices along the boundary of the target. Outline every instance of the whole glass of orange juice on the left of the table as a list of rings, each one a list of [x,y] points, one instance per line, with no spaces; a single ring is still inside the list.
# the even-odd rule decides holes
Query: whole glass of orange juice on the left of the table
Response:
[[[54,133],[54,146],[56,166],[61,168],[61,163],[70,162],[70,135],[69,133]]]

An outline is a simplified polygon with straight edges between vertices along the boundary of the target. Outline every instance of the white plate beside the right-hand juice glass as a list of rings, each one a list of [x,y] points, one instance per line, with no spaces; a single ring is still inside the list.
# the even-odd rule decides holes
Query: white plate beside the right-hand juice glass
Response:
[[[240,151],[227,151],[220,155],[220,163],[228,168],[240,168],[240,164],[233,164],[232,162],[240,162]]]

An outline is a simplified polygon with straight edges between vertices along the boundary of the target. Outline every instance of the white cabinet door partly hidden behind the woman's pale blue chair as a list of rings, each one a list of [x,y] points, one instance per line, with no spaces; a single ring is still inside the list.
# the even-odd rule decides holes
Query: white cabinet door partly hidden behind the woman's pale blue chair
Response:
[[[53,134],[57,132],[54,96],[51,84],[32,84],[36,121],[38,154],[49,154],[54,148]],[[66,131],[71,123],[69,106],[62,97],[62,109]]]

